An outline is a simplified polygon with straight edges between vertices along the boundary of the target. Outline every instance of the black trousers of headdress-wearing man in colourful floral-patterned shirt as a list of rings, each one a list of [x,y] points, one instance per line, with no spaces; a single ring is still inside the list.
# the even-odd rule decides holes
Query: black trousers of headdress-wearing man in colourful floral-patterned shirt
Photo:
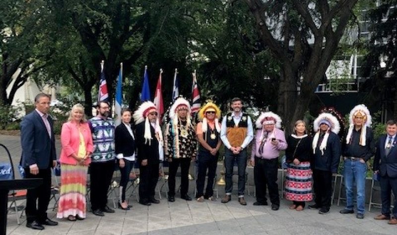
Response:
[[[191,162],[190,157],[173,158],[169,164],[169,175],[168,175],[168,195],[175,196],[175,176],[178,171],[179,165],[181,165],[181,196],[188,194],[189,189],[189,167]]]

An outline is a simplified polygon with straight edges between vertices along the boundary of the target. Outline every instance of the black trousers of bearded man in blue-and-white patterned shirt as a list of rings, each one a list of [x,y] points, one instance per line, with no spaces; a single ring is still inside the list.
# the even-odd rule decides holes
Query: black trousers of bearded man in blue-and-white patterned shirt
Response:
[[[108,204],[108,190],[115,170],[115,160],[92,162],[90,165],[91,209],[104,210]]]

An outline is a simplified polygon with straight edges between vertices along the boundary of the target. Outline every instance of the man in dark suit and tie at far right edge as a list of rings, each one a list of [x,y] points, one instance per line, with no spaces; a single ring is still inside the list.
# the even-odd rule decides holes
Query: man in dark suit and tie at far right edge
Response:
[[[393,216],[390,216],[390,197],[393,190],[397,195],[397,146],[396,133],[397,123],[389,120],[386,123],[387,135],[379,138],[376,145],[374,172],[380,176],[382,214],[376,216],[375,220],[389,220],[389,224],[397,224],[397,200],[393,208]]]

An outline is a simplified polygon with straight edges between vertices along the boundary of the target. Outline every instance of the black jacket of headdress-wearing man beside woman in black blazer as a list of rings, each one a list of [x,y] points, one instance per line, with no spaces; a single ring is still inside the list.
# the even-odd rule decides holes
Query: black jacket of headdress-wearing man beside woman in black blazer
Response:
[[[152,135],[152,139],[149,142],[145,143],[145,139],[143,135],[145,133],[145,122],[141,122],[136,125],[136,146],[138,148],[138,160],[141,162],[142,160],[147,159],[148,164],[156,164],[159,162],[159,153],[158,153],[158,140],[154,133],[154,128],[150,125],[150,133]]]

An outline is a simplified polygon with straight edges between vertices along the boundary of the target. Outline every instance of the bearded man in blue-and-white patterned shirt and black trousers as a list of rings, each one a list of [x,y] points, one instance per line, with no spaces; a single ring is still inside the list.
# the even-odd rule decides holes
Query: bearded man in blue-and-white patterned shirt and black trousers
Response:
[[[89,120],[94,151],[90,165],[90,199],[92,213],[104,216],[104,212],[114,213],[108,204],[108,188],[115,169],[115,124],[109,117],[110,107],[106,101],[99,101],[97,116]]]

